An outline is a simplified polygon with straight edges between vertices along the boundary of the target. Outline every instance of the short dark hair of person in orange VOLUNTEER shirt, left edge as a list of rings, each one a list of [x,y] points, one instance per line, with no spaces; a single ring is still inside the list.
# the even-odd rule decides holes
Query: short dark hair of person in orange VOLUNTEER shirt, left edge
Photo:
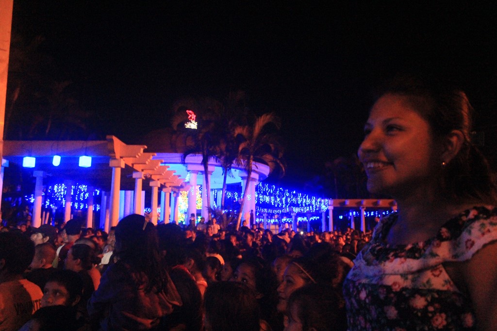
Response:
[[[34,243],[20,232],[0,233],[0,259],[9,273],[21,274],[34,257]]]

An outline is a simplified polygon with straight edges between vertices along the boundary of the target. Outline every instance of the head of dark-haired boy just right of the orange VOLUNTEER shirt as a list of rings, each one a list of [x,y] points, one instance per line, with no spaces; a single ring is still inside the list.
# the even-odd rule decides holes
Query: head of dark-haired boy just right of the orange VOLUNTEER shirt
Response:
[[[52,273],[43,289],[41,306],[76,306],[83,295],[83,280],[72,270],[57,270]]]

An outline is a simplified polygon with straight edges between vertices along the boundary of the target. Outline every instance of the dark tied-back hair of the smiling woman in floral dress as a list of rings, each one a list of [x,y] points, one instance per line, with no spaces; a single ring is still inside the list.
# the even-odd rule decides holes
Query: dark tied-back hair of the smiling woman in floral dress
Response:
[[[474,110],[462,90],[446,81],[404,75],[395,77],[380,92],[378,97],[405,96],[428,122],[435,139],[446,137],[453,130],[462,132],[464,142],[459,153],[439,176],[446,199],[495,203],[496,184],[487,159],[471,141]]]

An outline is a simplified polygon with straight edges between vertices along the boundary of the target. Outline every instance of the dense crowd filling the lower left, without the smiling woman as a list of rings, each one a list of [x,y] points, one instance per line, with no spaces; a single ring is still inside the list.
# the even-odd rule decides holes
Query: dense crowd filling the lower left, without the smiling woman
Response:
[[[79,219],[3,227],[0,330],[346,330],[342,282],[371,233],[215,224],[132,214],[109,233]]]

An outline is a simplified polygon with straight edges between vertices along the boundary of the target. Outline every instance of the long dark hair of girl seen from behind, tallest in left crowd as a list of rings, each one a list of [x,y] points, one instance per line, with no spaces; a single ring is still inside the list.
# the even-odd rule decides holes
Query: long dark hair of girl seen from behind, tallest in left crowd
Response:
[[[128,265],[131,272],[144,272],[148,283],[145,291],[166,290],[167,271],[161,263],[157,230],[143,215],[131,214],[116,226],[118,263]],[[141,285],[141,284],[140,284]]]

